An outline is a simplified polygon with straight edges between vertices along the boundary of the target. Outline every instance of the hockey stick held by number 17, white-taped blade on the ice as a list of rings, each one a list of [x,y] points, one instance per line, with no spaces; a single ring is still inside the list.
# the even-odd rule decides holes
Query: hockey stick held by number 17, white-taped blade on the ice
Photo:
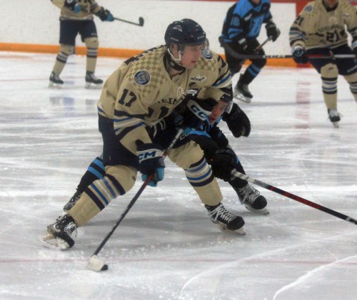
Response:
[[[174,147],[174,145],[176,144],[178,138],[180,138],[181,134],[183,133],[183,128],[180,128],[174,139],[171,141],[170,145],[168,146],[168,148],[166,148],[166,150],[164,151],[164,155],[163,157],[165,158],[169,152],[172,150],[172,148]],[[154,177],[154,174],[151,174],[141,185],[141,187],[139,188],[138,192],[136,192],[135,196],[133,197],[133,199],[131,200],[131,202],[129,202],[129,205],[126,207],[126,209],[124,210],[124,212],[121,214],[121,216],[119,217],[119,219],[116,221],[116,224],[114,225],[114,227],[111,229],[111,231],[106,234],[106,237],[104,237],[103,241],[101,242],[101,244],[99,245],[99,247],[96,249],[96,251],[94,252],[94,254],[91,256],[91,258],[89,259],[89,262],[87,264],[87,268],[92,270],[92,271],[106,271],[108,269],[108,264],[104,264],[104,260],[103,259],[99,259],[98,257],[96,257],[97,254],[99,254],[99,252],[101,251],[101,249],[104,247],[104,245],[106,244],[106,242],[108,242],[108,239],[111,237],[111,234],[114,233],[116,227],[119,226],[119,224],[121,223],[121,221],[124,219],[124,217],[126,216],[126,214],[129,212],[129,210],[131,209],[131,207],[135,204],[136,200],[138,200],[139,196],[141,195],[141,193],[145,190],[145,187],[149,184],[150,180],[152,180]]]

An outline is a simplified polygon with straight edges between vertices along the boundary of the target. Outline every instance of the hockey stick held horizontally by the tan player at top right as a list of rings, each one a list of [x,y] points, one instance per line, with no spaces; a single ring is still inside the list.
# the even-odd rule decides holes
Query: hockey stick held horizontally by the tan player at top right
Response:
[[[238,59],[262,59],[262,58],[293,58],[292,55],[286,55],[286,54],[278,54],[278,55],[246,55],[246,54],[240,54],[237,53],[236,51],[231,48],[231,46],[228,45],[225,41],[223,41],[222,36],[218,38],[219,42],[221,43],[221,46],[229,53],[229,55],[233,56],[234,58]],[[329,59],[335,59],[335,58],[356,58],[354,54],[335,54],[331,56],[325,56],[322,54],[310,54],[307,55],[308,58],[329,58]]]

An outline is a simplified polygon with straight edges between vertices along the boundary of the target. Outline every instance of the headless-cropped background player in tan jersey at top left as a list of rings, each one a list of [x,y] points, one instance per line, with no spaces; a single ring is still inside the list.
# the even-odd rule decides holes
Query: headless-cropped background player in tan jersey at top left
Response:
[[[94,76],[96,71],[96,57],[98,54],[98,36],[93,14],[101,21],[114,21],[109,10],[99,6],[95,0],[51,0],[52,4],[61,9],[59,17],[59,53],[49,78],[49,86],[62,86],[64,81],[59,78],[67,58],[74,52],[76,36],[79,33],[81,40],[86,43],[86,88],[100,88],[103,81]]]

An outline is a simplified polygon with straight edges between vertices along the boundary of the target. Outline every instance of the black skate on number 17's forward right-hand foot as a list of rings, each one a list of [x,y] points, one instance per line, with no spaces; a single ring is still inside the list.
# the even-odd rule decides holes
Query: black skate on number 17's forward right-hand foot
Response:
[[[228,210],[224,208],[222,203],[217,206],[205,205],[205,207],[206,210],[208,210],[208,216],[211,217],[211,221],[214,224],[217,224],[218,228],[221,229],[221,231],[228,230],[231,232],[236,232],[238,234],[246,234],[243,228],[243,218],[236,216],[231,212],[228,212]]]

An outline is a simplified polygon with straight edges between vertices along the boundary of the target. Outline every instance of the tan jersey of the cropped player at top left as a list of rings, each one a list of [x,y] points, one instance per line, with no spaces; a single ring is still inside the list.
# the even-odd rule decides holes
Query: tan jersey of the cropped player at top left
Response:
[[[77,0],[77,3],[81,6],[81,11],[79,13],[74,13],[71,9],[64,6],[66,0],[51,0],[52,4],[56,5],[61,9],[60,20],[93,20],[93,14],[101,10],[95,0]]]

